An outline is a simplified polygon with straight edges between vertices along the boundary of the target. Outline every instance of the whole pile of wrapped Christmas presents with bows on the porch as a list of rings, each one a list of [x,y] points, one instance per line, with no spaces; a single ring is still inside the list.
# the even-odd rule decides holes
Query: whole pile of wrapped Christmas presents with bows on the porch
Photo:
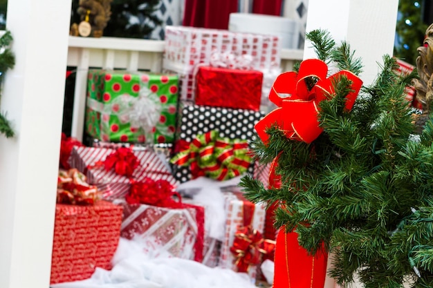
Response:
[[[62,141],[61,171],[73,176],[59,180],[51,283],[109,269],[120,237],[252,279],[272,253],[265,205],[246,200],[238,186],[221,189],[222,239],[205,229],[207,207],[176,187],[245,173],[266,182],[250,144],[264,117],[264,79],[279,70],[279,39],[174,26],[165,37],[161,74],[89,70],[85,131],[95,141]],[[65,188],[65,181],[79,183]]]

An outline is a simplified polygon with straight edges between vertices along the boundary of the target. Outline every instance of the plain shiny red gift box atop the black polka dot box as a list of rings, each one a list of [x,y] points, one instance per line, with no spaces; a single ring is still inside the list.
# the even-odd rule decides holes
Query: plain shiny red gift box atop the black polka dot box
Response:
[[[195,104],[259,111],[263,73],[199,66]]]

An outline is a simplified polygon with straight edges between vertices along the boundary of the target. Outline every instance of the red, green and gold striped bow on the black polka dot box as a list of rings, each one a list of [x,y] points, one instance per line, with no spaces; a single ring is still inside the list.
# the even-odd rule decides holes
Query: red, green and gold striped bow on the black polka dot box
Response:
[[[219,137],[213,130],[197,135],[170,162],[190,166],[194,178],[206,176],[222,181],[246,172],[252,158],[246,140]]]

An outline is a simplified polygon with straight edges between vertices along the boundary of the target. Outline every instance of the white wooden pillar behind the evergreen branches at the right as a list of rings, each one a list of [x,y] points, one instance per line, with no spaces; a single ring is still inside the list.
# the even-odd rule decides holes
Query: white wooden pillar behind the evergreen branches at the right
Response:
[[[371,84],[383,64],[383,55],[393,55],[398,0],[309,0],[306,32],[328,30],[335,41],[347,40],[355,57],[361,57],[364,84]],[[304,59],[315,58],[306,41]]]

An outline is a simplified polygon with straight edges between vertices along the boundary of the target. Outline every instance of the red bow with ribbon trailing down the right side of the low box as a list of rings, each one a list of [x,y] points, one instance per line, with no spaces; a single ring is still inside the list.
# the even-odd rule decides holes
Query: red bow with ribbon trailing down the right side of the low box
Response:
[[[178,201],[174,200],[174,197]],[[203,260],[203,248],[205,239],[205,213],[203,207],[192,204],[182,203],[181,195],[174,191],[174,186],[167,180],[151,180],[146,178],[142,181],[132,181],[129,194],[125,200],[128,204],[148,204],[157,207],[186,209],[193,208],[196,210],[197,237],[194,243],[194,260],[201,262]]]

